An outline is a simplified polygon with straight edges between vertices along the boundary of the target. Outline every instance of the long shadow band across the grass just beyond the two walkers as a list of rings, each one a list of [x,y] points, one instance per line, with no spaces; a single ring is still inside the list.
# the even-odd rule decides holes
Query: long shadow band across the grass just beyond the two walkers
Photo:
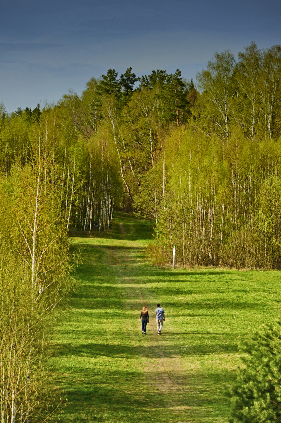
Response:
[[[102,269],[99,268],[101,271]],[[91,283],[90,273],[93,273],[93,281]],[[120,312],[118,310],[131,310],[135,311],[136,315],[139,313],[140,305],[142,301],[139,298],[139,294],[145,298],[145,291],[146,291],[146,284],[139,284],[138,286],[138,293],[136,293],[134,286],[128,286],[130,284],[130,278],[128,278],[127,282],[118,283],[114,279],[111,280],[110,277],[104,277],[103,272],[101,271],[99,274],[98,272],[91,272],[87,271],[87,284],[81,283],[79,286],[79,291],[73,292],[71,294],[71,306],[72,308],[77,308],[79,310],[95,310],[96,308],[111,308],[116,310],[115,318],[120,318]],[[96,279],[96,277],[100,275],[102,279]],[[177,281],[178,283],[179,281]],[[183,282],[188,283],[190,281],[183,280]],[[175,282],[176,283],[176,282]],[[120,293],[124,288],[124,285],[128,287],[128,297],[126,304],[123,303],[123,299],[120,298]],[[150,283],[150,291],[153,289],[153,283]],[[214,287],[210,287],[210,295],[212,294]],[[175,317],[201,317],[207,319],[218,319],[222,318],[223,316],[228,316],[227,313],[229,310],[235,310],[236,313],[239,312],[247,312],[253,309],[256,310],[258,313],[262,313],[264,310],[264,304],[258,303],[255,301],[250,301],[247,297],[245,299],[245,294],[250,291],[246,291],[243,289],[235,290],[235,295],[231,295],[228,299],[225,298],[227,296],[227,291],[221,291],[221,297],[214,297],[214,298],[194,298],[193,295],[197,294],[197,291],[191,291],[189,288],[188,290],[182,289],[173,289],[171,285],[162,287],[161,288],[161,295],[160,295],[160,303],[161,306],[166,311],[166,317],[168,318],[175,318]],[[237,298],[237,293],[243,294],[241,297],[244,298],[241,301]],[[181,299],[179,302],[169,301],[169,297],[173,296],[181,296],[185,295],[188,298]],[[206,292],[207,295],[207,292]],[[161,302],[161,297],[166,298],[165,302]],[[156,303],[155,303],[156,308]],[[150,305],[148,308],[149,313],[152,312],[152,316],[154,316],[154,305]],[[130,322],[128,322],[130,324]]]

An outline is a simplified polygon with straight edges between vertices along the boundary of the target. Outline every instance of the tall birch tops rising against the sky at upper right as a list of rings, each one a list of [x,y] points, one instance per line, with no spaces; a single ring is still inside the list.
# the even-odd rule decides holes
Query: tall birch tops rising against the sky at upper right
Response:
[[[278,124],[281,89],[281,47],[257,49],[254,41],[238,53],[238,62],[226,50],[216,53],[207,69],[197,74],[202,98],[196,105],[199,127],[220,140],[238,123],[252,140],[257,135],[272,140]],[[198,119],[199,118],[199,119]]]

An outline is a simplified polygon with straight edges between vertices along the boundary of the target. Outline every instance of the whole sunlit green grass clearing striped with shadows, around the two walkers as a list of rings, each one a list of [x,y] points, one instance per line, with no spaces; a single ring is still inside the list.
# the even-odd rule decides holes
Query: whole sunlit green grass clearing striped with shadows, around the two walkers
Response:
[[[276,317],[281,273],[153,267],[151,233],[150,222],[119,214],[106,238],[74,239],[83,263],[54,335],[52,382],[64,403],[54,421],[228,421],[224,383],[240,363],[238,336]]]

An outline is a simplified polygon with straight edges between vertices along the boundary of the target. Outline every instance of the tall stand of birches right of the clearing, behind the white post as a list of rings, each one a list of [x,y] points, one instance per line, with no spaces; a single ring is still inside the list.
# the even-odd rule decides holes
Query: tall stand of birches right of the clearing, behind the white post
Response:
[[[162,137],[141,207],[157,263],[275,267],[280,256],[281,47],[216,53],[192,116]],[[150,194],[148,194],[150,192]]]

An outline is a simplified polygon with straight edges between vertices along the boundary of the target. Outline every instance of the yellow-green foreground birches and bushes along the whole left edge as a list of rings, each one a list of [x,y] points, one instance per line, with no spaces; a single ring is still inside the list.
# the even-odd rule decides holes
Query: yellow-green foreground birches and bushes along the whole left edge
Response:
[[[7,422],[48,414],[44,362],[53,311],[73,285],[58,192],[40,143],[33,147],[33,165],[0,180],[0,404]]]

